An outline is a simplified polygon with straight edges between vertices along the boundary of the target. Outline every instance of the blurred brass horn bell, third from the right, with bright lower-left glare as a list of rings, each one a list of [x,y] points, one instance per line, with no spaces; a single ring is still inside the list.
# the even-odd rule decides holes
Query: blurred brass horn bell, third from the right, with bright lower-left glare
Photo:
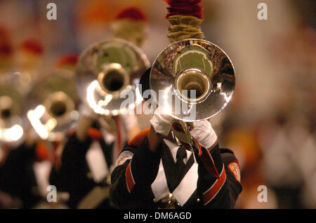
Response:
[[[27,118],[42,140],[62,140],[79,120],[79,97],[72,79],[53,73],[27,95]]]

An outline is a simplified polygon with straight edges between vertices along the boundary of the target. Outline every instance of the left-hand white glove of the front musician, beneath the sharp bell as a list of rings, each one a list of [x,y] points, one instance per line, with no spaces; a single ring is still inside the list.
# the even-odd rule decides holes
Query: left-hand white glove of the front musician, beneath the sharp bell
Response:
[[[156,111],[154,111],[154,115],[152,116],[152,119],[150,119],[150,123],[156,133],[165,136],[169,135],[171,130],[171,116],[164,114],[162,107],[158,107]]]

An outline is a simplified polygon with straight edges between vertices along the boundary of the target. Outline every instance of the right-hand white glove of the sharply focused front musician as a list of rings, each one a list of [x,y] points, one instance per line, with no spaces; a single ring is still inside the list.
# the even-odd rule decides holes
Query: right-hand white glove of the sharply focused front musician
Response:
[[[196,121],[193,125],[195,128],[191,130],[190,133],[202,147],[209,149],[216,143],[217,135],[209,121]]]

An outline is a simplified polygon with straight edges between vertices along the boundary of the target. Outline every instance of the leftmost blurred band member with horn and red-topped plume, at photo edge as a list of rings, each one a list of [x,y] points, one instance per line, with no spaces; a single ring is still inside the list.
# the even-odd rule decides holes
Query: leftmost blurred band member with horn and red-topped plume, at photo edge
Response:
[[[3,31],[0,30],[0,36],[3,35],[1,32]],[[9,42],[4,41],[3,36],[0,39],[1,53],[12,53]],[[11,128],[8,139],[5,139],[5,135],[0,134],[0,190],[13,198],[13,203],[7,203],[9,206],[6,208],[34,208],[41,200],[39,184],[34,173],[34,163],[46,160],[48,154],[43,150],[42,144],[37,143],[34,130],[25,123],[22,113],[25,109],[25,104],[23,104],[25,95],[34,81],[32,74],[37,72],[38,59],[41,58],[43,50],[41,42],[34,39],[21,43],[20,53],[34,55],[34,58],[28,60],[27,55],[20,57],[21,60],[29,61],[27,67],[21,65],[17,70],[19,72],[27,71],[28,75],[31,75],[28,76],[27,83],[25,76],[15,75],[12,71],[1,76],[3,78],[0,87],[1,133],[8,130],[6,125],[2,126],[3,123],[12,124],[21,120],[15,123],[15,127],[20,126],[19,129],[13,130],[14,126]]]

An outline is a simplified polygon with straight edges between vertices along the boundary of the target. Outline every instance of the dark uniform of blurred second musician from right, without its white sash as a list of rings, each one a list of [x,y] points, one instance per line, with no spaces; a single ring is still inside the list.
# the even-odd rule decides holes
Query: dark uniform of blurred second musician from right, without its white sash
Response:
[[[92,130],[92,131],[91,131]],[[112,165],[112,144],[107,144],[102,134],[96,128],[90,128],[90,133],[84,142],[77,139],[76,134],[68,135],[67,143],[62,151],[60,165],[56,165],[50,176],[51,184],[55,185],[58,191],[67,191],[70,194],[67,205],[69,208],[78,208],[79,203],[91,193],[91,198],[101,194],[100,201],[93,201],[95,205],[84,208],[111,208],[108,194],[106,177],[100,182],[93,180],[91,169],[86,160],[86,154],[91,149],[93,142],[98,142],[103,151],[107,169]],[[98,190],[96,190],[98,189]],[[92,192],[91,192],[92,191]],[[97,191],[93,193],[93,191]],[[88,203],[89,199],[88,198]],[[96,199],[93,199],[96,200]]]

